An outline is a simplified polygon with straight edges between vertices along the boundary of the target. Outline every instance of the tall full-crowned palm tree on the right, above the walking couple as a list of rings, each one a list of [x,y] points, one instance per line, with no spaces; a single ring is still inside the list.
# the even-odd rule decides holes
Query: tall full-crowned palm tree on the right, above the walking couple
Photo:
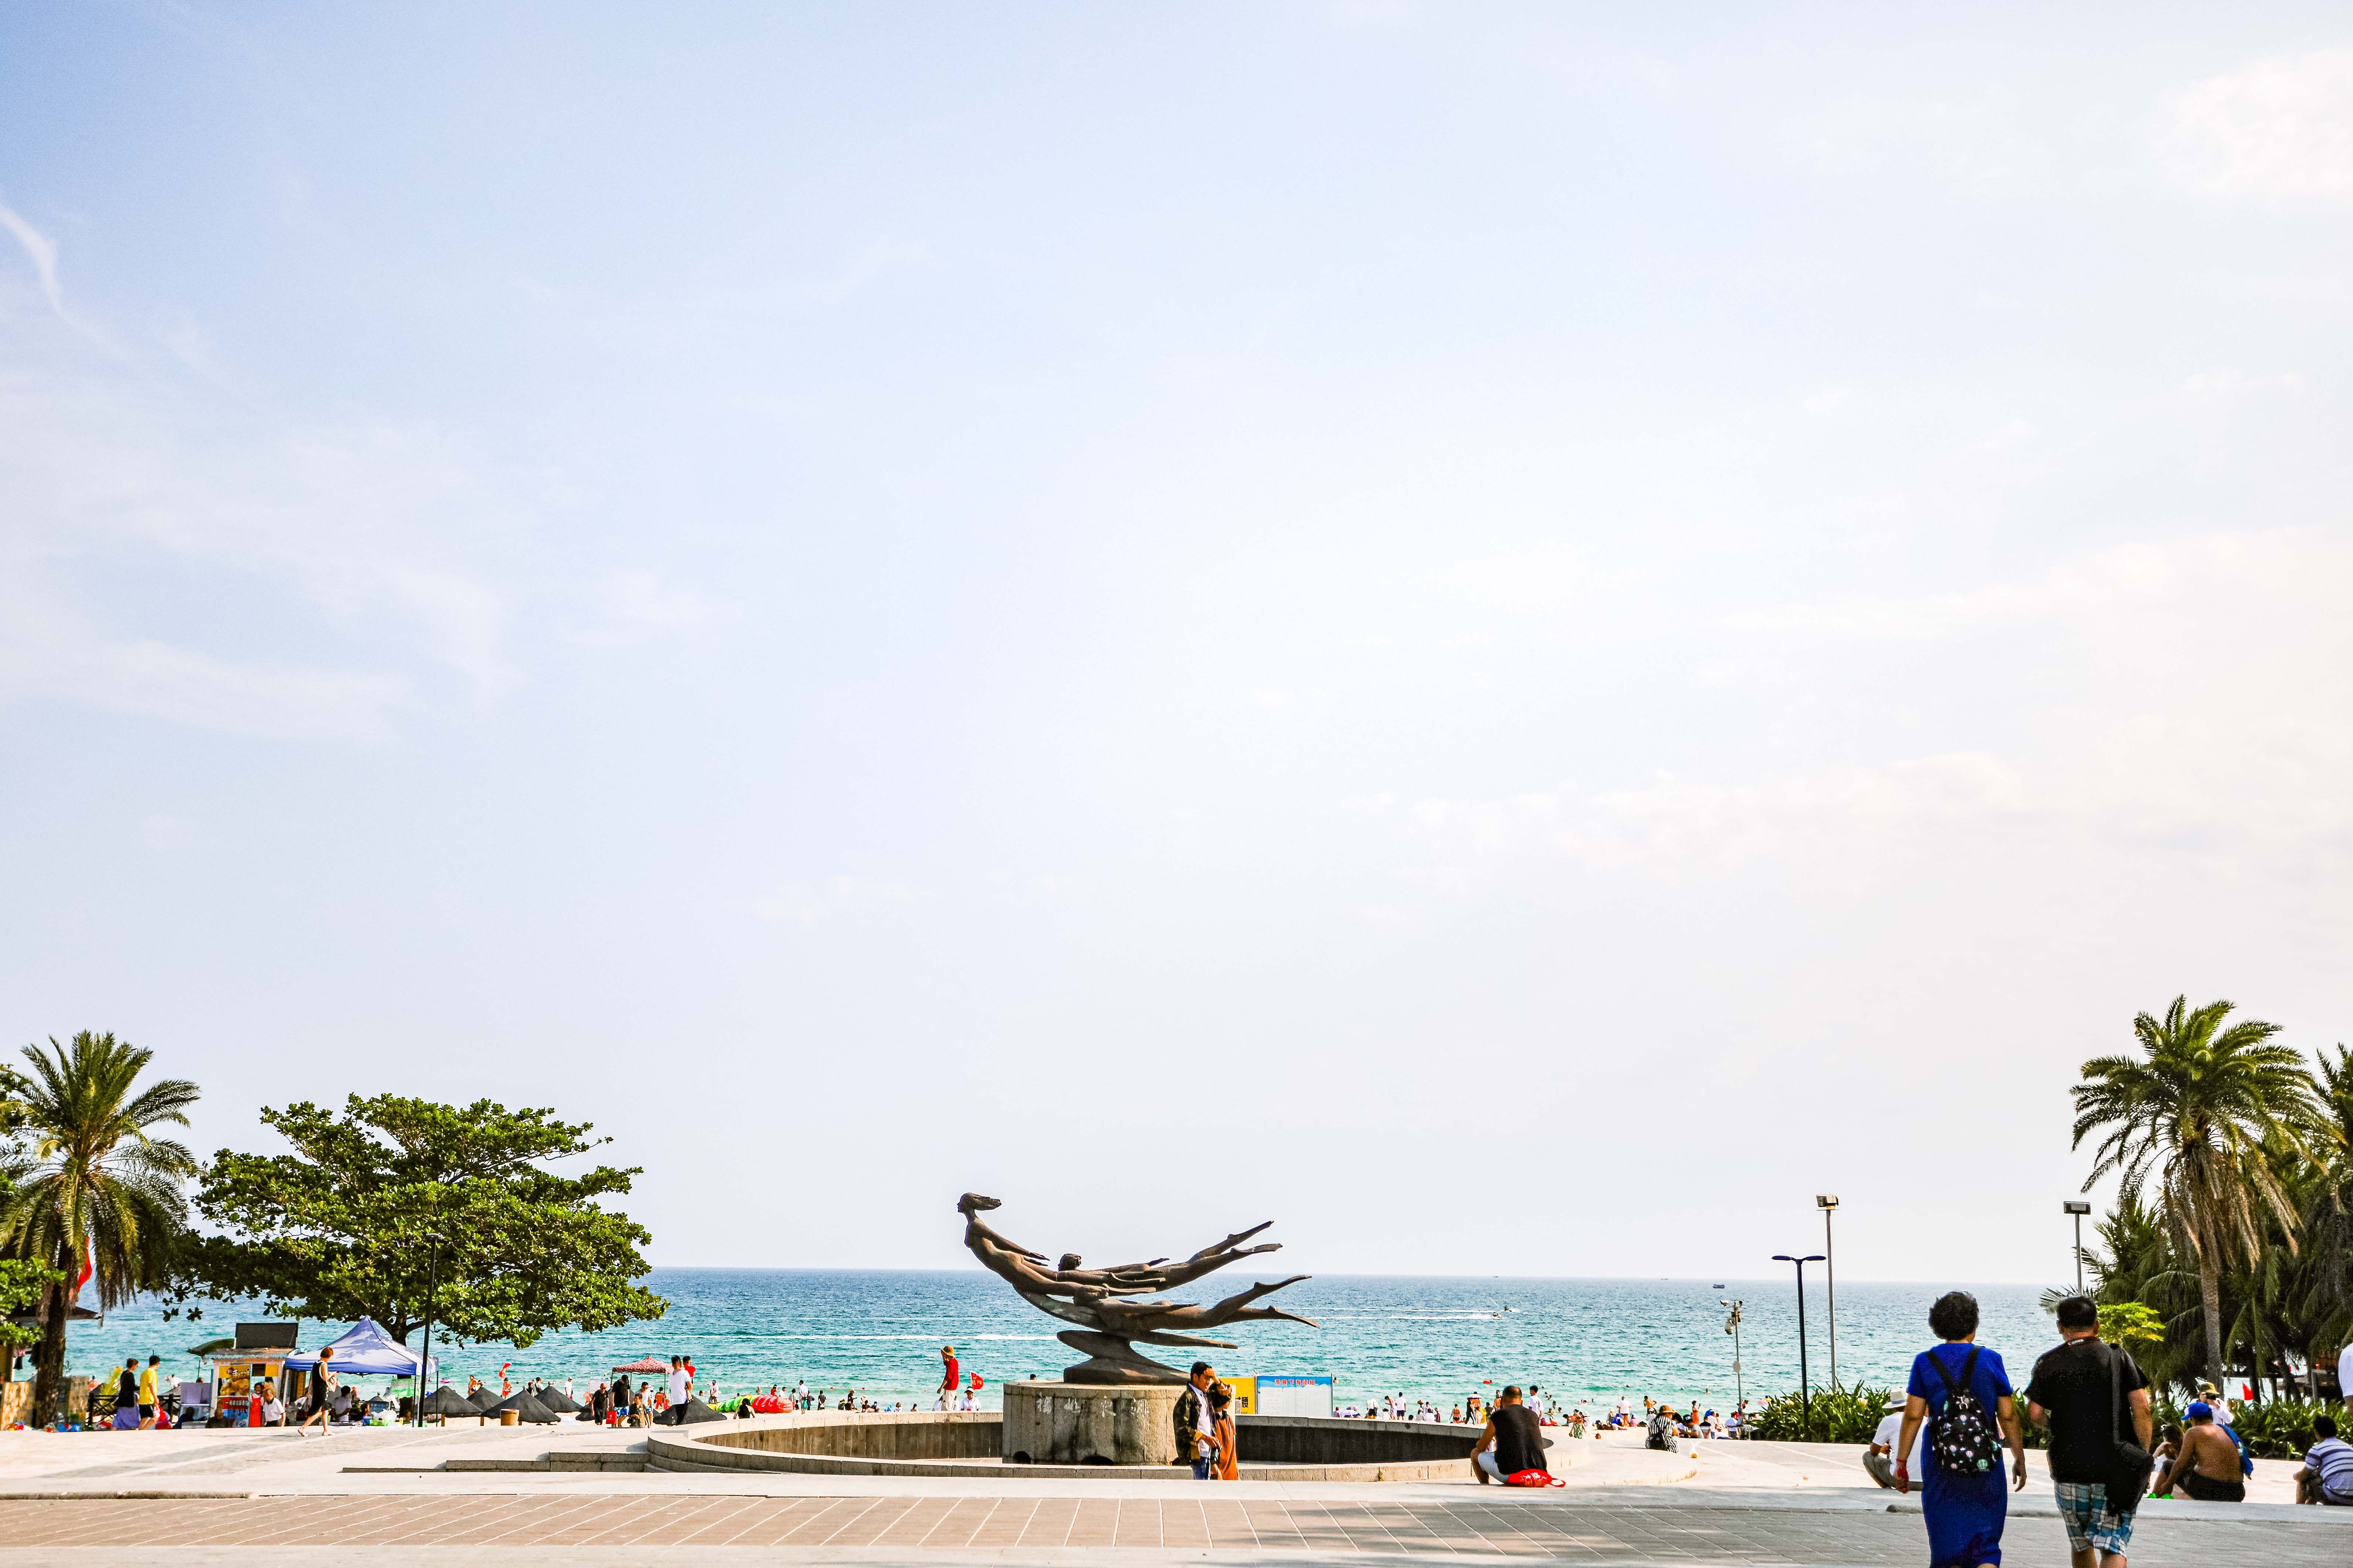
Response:
[[[2308,1157],[2308,1140],[2322,1128],[2304,1058],[2271,1044],[2280,1025],[2245,1018],[2224,1027],[2228,1016],[2228,1001],[2191,1011],[2188,997],[2174,997],[2165,1018],[2132,1020],[2141,1056],[2092,1058],[2073,1088],[2075,1147],[2104,1133],[2085,1192],[2120,1171],[2122,1197],[2137,1201],[2155,1178],[2155,1211],[2198,1262],[2207,1378],[2217,1385],[2221,1269],[2261,1262],[2264,1213],[2294,1246],[2297,1213],[2275,1150]]]

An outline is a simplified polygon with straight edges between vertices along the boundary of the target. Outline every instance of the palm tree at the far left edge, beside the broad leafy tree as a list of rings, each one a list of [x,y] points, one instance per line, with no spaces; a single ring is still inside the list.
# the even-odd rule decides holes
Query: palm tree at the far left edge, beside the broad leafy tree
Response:
[[[26,1140],[14,1190],[0,1201],[0,1248],[33,1258],[66,1279],[47,1291],[47,1321],[33,1373],[33,1420],[56,1420],[66,1382],[66,1316],[73,1276],[87,1251],[99,1307],[118,1307],[162,1284],[172,1241],[188,1225],[181,1182],[195,1154],[151,1128],[188,1126],[195,1084],[162,1079],[134,1093],[153,1051],[82,1030],[73,1046],[26,1046],[31,1074],[0,1070],[0,1095]]]

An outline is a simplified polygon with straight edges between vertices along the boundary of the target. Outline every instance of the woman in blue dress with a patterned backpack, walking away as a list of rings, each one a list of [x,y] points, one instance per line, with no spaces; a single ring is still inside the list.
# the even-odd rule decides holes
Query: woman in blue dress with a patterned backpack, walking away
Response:
[[[1915,1476],[1904,1474],[1913,1450],[1913,1434],[1920,1422],[1929,1422],[1929,1441],[1920,1462],[1927,1467],[1920,1481],[1920,1512],[1927,1516],[1929,1568],[1974,1568],[1974,1563],[2002,1561],[2002,1523],[2009,1519],[2009,1490],[2026,1488],[2026,1432],[2019,1427],[2019,1406],[2009,1396],[2009,1373],[2002,1356],[1977,1342],[1977,1298],[1967,1291],[1951,1291],[1927,1309],[1927,1326],[1944,1345],[1913,1356],[1913,1378],[1904,1401],[1904,1436],[1897,1441],[1897,1490],[1908,1493]],[[1977,1406],[1951,1410],[1958,1394],[1967,1392]],[[1946,1422],[1946,1415],[1955,1415]],[[2002,1458],[1993,1446],[1993,1425],[2009,1443],[2012,1481],[2002,1486]],[[1981,1441],[1967,1443],[1969,1427],[1981,1432]],[[1960,1469],[1953,1467],[1955,1458]]]

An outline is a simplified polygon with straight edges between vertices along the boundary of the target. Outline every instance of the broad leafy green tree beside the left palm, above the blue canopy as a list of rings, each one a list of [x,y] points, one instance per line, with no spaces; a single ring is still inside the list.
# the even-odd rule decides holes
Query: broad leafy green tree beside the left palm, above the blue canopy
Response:
[[[586,1121],[400,1095],[351,1095],[341,1112],[264,1107],[261,1121],[294,1152],[214,1154],[195,1206],[224,1234],[186,1251],[179,1300],[261,1298],[275,1314],[327,1321],[365,1314],[407,1342],[438,1255],[433,1321],[459,1340],[532,1345],[551,1328],[614,1328],[668,1309],[633,1284],[652,1237],[600,1206],[640,1171],[546,1168],[612,1143],[588,1138]]]

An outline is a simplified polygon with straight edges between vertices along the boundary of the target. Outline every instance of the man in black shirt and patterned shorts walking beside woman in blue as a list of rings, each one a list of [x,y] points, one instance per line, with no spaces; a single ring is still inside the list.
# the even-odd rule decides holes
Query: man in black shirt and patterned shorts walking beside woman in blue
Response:
[[[2073,1568],[2127,1568],[2132,1509],[2108,1507],[2115,1443],[2151,1448],[2148,1378],[2122,1349],[2099,1342],[2089,1295],[2059,1302],[2061,1345],[2035,1361],[2026,1410],[2049,1429],[2049,1469]]]

